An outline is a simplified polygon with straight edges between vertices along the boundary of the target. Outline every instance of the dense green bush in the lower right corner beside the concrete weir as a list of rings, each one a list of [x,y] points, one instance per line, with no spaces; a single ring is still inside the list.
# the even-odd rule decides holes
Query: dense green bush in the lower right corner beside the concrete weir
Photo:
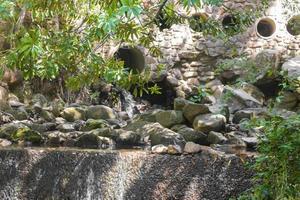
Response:
[[[300,199],[300,115],[254,119],[264,134],[253,165],[257,185],[240,200]]]

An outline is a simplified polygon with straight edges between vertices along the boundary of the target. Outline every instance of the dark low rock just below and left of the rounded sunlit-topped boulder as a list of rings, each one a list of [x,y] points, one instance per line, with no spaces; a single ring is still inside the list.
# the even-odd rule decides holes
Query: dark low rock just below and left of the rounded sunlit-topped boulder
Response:
[[[187,142],[195,142],[203,145],[208,144],[206,134],[196,131],[186,125],[175,125],[171,130],[182,135]]]

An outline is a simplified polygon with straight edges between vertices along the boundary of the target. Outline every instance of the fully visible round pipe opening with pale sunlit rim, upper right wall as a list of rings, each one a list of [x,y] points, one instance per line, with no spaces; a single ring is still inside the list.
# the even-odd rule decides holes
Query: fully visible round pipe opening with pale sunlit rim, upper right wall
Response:
[[[263,38],[269,38],[276,32],[276,23],[273,19],[266,17],[260,19],[256,24],[256,33]]]

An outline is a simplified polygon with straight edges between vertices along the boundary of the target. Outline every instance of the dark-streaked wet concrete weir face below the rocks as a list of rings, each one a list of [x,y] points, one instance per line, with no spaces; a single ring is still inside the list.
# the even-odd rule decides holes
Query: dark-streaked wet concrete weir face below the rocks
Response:
[[[235,156],[0,150],[0,199],[225,200],[251,185]]]

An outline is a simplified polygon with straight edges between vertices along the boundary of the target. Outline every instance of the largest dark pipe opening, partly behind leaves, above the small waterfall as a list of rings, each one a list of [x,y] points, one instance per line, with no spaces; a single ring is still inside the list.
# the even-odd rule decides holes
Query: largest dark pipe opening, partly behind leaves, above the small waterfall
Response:
[[[114,57],[124,62],[124,68],[134,73],[141,73],[145,69],[144,54],[136,47],[123,46],[116,51]]]

